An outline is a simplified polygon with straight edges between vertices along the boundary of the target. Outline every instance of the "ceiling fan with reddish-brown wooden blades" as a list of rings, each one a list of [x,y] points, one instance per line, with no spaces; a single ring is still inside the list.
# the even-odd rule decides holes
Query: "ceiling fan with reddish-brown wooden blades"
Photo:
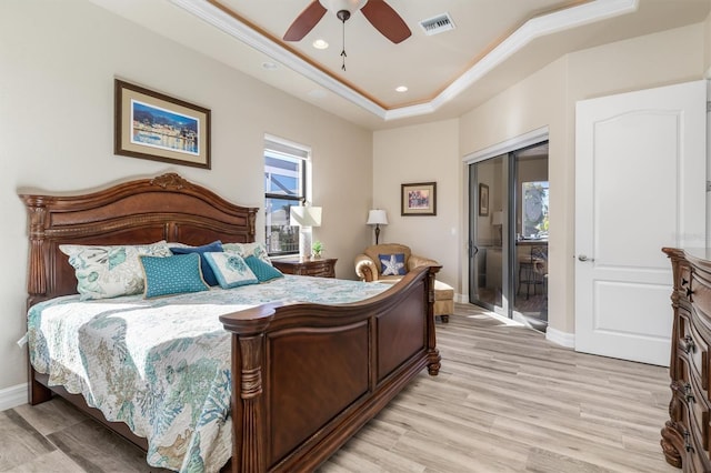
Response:
[[[412,34],[404,20],[384,0],[313,0],[291,23],[284,41],[301,41],[329,10],[336,12],[343,24],[360,10],[382,36],[395,44]]]

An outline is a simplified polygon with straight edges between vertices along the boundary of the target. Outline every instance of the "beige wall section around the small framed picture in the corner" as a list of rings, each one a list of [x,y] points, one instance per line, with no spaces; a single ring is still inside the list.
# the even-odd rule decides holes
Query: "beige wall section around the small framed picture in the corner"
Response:
[[[458,133],[457,120],[377,131],[372,158],[373,207],[384,209],[389,221],[380,242],[403,243],[435,259],[442,264],[438,279],[452,285],[461,271]],[[401,184],[414,182],[437,182],[437,215],[400,215]]]

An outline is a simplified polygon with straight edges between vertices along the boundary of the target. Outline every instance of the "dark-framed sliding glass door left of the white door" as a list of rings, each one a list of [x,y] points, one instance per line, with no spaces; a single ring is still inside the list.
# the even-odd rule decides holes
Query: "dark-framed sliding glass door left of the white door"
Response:
[[[469,164],[469,301],[548,325],[548,142]]]

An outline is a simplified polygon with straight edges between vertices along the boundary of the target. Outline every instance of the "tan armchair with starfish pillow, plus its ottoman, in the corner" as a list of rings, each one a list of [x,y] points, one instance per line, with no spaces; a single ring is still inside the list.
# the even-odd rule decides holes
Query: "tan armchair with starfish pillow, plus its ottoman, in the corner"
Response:
[[[356,273],[362,281],[395,283],[418,266],[440,265],[437,261],[412,254],[410,248],[399,243],[373,244],[356,256]],[[434,316],[449,321],[454,312],[454,290],[434,281]]]

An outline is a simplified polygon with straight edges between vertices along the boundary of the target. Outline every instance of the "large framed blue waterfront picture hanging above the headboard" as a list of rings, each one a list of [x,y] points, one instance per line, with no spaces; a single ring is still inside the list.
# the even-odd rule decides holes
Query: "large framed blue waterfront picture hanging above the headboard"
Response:
[[[210,110],[116,79],[116,154],[210,169]]]

